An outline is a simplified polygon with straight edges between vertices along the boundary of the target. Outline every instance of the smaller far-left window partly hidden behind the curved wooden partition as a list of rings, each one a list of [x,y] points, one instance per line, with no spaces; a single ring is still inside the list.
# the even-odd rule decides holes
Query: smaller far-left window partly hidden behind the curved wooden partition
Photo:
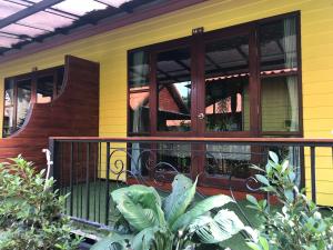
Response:
[[[32,102],[47,103],[60,92],[63,67],[34,71],[4,80],[4,112],[2,136],[19,130]]]

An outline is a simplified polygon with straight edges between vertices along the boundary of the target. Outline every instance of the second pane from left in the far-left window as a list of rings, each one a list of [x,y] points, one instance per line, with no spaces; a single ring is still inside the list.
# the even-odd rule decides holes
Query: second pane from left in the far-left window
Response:
[[[26,120],[31,100],[31,80],[21,80],[18,84],[17,129],[20,129]]]

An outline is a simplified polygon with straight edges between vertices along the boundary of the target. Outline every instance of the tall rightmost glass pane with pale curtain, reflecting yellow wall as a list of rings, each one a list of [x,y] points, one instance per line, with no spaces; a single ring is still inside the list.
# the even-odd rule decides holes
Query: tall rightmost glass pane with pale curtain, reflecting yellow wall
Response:
[[[262,130],[299,131],[296,20],[260,29]]]

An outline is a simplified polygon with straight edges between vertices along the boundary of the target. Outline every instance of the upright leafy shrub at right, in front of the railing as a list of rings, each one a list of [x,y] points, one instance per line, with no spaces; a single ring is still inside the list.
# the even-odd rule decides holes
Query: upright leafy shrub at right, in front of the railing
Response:
[[[315,203],[294,183],[296,174],[287,160],[279,161],[274,152],[265,170],[254,167],[261,190],[276,197],[281,209],[271,210],[266,200],[248,196],[262,220],[261,237],[249,242],[253,250],[324,250],[333,249],[333,218],[323,218]]]

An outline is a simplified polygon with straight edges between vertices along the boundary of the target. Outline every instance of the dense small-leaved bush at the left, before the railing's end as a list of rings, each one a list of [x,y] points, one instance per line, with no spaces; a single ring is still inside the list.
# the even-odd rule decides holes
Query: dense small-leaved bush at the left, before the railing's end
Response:
[[[61,216],[65,197],[50,190],[54,180],[20,156],[11,161],[0,163],[0,249],[78,249]]]

